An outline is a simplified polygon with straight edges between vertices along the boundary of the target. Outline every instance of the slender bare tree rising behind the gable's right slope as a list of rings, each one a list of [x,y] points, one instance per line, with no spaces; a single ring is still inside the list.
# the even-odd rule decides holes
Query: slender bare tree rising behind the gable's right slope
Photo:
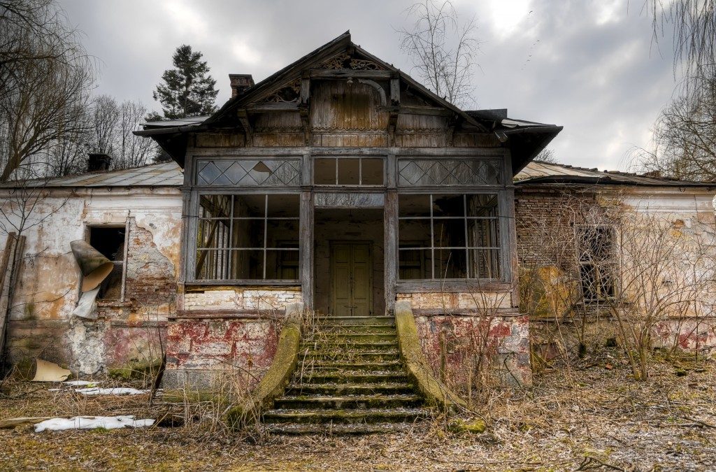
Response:
[[[461,22],[449,0],[425,0],[406,10],[415,19],[411,29],[400,29],[400,47],[428,87],[449,102],[473,102],[473,66],[478,52],[475,18]]]

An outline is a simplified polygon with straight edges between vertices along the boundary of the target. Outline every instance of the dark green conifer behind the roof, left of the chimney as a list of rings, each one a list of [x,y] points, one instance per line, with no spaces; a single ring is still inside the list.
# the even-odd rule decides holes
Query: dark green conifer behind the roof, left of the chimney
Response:
[[[153,93],[154,100],[162,104],[163,116],[152,113],[148,120],[175,120],[216,111],[216,80],[208,75],[209,67],[201,57],[200,52],[193,52],[187,44],[177,48],[172,57],[175,68],[164,71],[164,83],[157,85]]]

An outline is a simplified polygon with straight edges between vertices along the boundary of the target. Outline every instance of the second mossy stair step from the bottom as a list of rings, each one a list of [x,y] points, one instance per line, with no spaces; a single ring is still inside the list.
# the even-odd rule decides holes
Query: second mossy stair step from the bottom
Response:
[[[269,410],[263,413],[264,423],[405,423],[428,418],[428,408],[360,408],[340,410]]]

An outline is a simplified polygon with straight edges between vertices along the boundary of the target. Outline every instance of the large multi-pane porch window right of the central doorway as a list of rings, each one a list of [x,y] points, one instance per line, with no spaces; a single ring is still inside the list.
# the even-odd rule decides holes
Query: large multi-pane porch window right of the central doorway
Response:
[[[500,279],[495,194],[398,198],[400,279]]]

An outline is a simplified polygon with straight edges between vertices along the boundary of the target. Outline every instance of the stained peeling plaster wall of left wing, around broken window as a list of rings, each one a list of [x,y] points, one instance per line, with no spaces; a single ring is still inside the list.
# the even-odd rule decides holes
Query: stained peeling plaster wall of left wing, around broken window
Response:
[[[48,193],[32,202],[23,231],[25,256],[9,323],[11,361],[42,357],[92,374],[160,357],[160,339],[176,306],[180,191],[53,188]],[[0,200],[6,213],[19,203],[9,195]],[[86,239],[87,227],[100,225],[128,226],[125,301],[99,301],[97,320],[73,319],[81,274],[69,242]],[[4,233],[2,248],[5,241]]]

